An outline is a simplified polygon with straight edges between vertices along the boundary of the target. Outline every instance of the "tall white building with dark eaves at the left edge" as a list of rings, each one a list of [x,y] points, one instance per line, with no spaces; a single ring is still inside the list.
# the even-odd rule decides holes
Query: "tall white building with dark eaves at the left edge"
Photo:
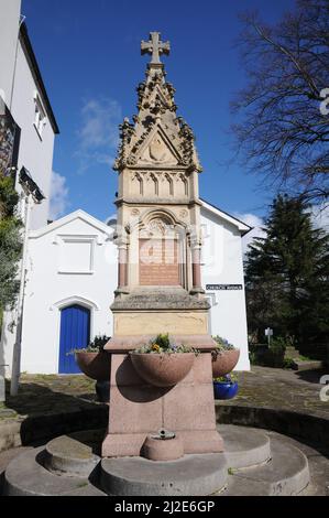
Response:
[[[28,258],[28,233],[44,227],[50,212],[53,152],[58,127],[28,34],[21,0],[0,0],[0,172],[15,179],[24,224],[21,290],[17,307],[3,315],[0,382],[4,364],[14,365],[12,393],[20,368],[21,313]],[[12,326],[13,324],[13,326]],[[12,332],[10,332],[12,330]],[[6,343],[10,342],[8,347]],[[13,354],[15,343],[15,359]]]

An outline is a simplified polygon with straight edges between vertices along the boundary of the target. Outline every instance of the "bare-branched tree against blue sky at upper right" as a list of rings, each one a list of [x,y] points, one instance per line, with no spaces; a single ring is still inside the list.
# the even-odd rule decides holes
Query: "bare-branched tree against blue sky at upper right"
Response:
[[[233,110],[235,142],[251,171],[307,201],[329,193],[329,1],[296,0],[273,25],[242,17],[248,86]]]

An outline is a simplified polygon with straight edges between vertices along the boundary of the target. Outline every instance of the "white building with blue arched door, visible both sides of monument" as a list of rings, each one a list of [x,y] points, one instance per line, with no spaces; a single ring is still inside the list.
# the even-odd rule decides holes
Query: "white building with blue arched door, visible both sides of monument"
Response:
[[[250,365],[241,237],[250,227],[206,202],[201,225],[202,281],[211,303],[210,332],[240,347],[238,368],[246,370]],[[112,335],[110,305],[118,285],[112,235],[112,227],[83,211],[30,233],[22,371],[77,371],[73,355],[67,353],[87,345],[96,335]],[[8,364],[12,347],[13,338],[7,332]]]

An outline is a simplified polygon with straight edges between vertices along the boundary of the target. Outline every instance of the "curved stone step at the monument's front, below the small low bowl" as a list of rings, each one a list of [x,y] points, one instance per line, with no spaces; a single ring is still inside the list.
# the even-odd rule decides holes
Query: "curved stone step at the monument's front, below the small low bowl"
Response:
[[[185,455],[166,462],[143,457],[101,461],[101,487],[113,496],[206,496],[222,488],[227,478],[223,453]]]

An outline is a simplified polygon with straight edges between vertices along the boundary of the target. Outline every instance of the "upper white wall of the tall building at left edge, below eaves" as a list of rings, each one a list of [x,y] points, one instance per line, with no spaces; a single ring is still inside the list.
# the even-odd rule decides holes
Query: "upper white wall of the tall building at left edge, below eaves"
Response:
[[[25,166],[46,197],[32,211],[33,230],[47,224],[55,136],[47,117],[42,138],[34,127],[35,91],[43,99],[19,40],[20,10],[21,0],[0,0],[0,95],[21,128],[19,171]],[[18,183],[17,188],[21,193]]]

